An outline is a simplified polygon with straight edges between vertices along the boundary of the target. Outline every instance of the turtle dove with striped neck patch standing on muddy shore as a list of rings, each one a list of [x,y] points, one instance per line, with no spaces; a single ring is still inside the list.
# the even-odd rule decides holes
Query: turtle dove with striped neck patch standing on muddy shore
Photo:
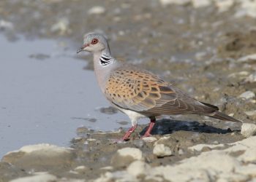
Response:
[[[77,53],[93,54],[94,72],[100,90],[112,105],[132,122],[122,141],[129,141],[138,126],[138,119],[149,118],[147,130],[142,138],[151,136],[156,116],[198,114],[230,122],[242,122],[219,111],[217,106],[203,103],[187,95],[170,82],[138,66],[113,58],[108,39],[101,33],[87,33],[83,46]]]

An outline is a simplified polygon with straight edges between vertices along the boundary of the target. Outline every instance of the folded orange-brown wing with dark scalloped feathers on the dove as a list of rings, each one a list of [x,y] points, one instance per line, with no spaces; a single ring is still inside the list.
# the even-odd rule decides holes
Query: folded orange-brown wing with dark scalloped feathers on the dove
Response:
[[[158,76],[136,68],[113,71],[106,83],[105,95],[118,107],[148,116],[208,114],[217,111],[217,108],[190,98]]]

